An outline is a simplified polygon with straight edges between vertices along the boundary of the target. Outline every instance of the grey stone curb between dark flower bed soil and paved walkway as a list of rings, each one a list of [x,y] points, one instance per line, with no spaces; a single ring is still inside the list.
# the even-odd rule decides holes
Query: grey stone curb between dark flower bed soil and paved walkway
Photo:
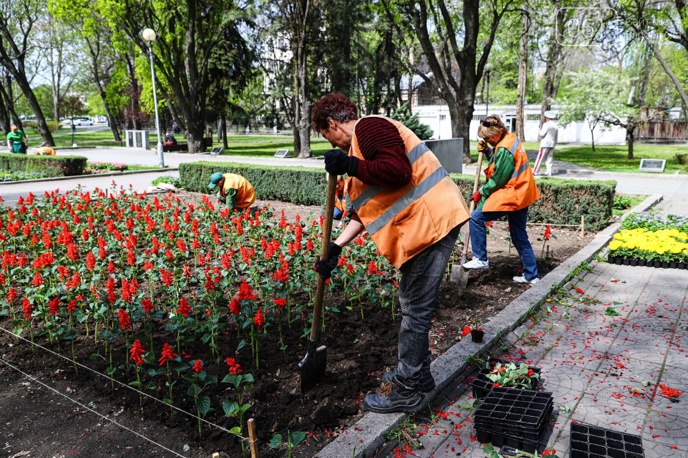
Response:
[[[546,274],[536,285],[524,291],[515,298],[501,312],[483,326],[485,336],[482,343],[471,342],[464,338],[453,347],[438,356],[431,364],[431,370],[435,376],[436,389],[428,393],[426,400],[439,400],[452,393],[458,386],[462,374],[469,363],[464,361],[466,356],[477,356],[486,353],[505,338],[509,333],[517,329],[525,320],[539,309],[540,305],[552,294],[552,290],[566,284],[572,272],[585,262],[590,262],[595,254],[600,252],[614,234],[621,228],[621,221],[630,212],[643,212],[652,208],[663,199],[661,194],[654,194],[640,204],[626,212],[619,221],[611,224],[600,232],[587,246],[561,263],[555,270]],[[524,329],[520,330],[520,334]],[[519,333],[517,333],[519,334]],[[347,433],[339,435],[325,448],[316,453],[313,458],[369,458],[376,455],[377,450],[385,444],[385,434],[400,424],[407,415],[405,413],[367,413],[363,418],[352,425]],[[355,450],[355,452],[354,452]]]

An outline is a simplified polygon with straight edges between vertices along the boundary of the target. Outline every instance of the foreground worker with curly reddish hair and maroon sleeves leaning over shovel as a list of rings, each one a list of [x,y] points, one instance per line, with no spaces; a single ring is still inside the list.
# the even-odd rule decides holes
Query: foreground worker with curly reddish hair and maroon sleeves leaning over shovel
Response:
[[[380,254],[402,271],[398,365],[363,406],[380,413],[416,412],[424,405],[423,393],[435,388],[428,333],[435,298],[469,210],[437,157],[400,122],[384,116],[359,120],[354,102],[337,93],[317,100],[311,119],[333,148],[348,151],[325,153],[325,170],[349,175],[353,207],[350,222],[330,243],[328,259],[316,262],[316,271],[329,279],[342,247],[364,229]]]

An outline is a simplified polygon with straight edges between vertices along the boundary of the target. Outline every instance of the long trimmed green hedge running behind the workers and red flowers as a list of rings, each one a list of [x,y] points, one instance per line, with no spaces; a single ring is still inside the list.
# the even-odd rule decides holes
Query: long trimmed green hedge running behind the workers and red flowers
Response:
[[[266,167],[232,162],[186,162],[180,164],[182,187],[198,193],[209,193],[208,179],[214,172],[238,173],[251,182],[261,200],[281,200],[300,205],[321,205],[327,180],[325,171],[306,167]],[[452,173],[468,201],[473,194],[470,175]],[[484,181],[484,180],[483,180]],[[528,221],[550,224],[580,224],[585,215],[585,227],[600,230],[612,217],[612,202],[616,182],[561,179],[537,179],[540,199],[530,206]]]

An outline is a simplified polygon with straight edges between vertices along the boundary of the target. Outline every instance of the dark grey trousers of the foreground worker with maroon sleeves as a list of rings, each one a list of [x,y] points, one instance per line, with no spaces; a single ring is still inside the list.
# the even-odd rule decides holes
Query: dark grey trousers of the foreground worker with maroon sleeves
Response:
[[[413,388],[423,371],[430,370],[432,353],[429,331],[435,298],[453,251],[461,226],[407,261],[399,283],[401,329],[396,380]]]

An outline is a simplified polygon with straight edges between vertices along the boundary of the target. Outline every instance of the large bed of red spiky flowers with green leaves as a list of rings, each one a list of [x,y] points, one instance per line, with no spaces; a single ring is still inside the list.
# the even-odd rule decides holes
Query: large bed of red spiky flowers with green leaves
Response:
[[[26,339],[5,333],[3,342],[33,373],[52,373],[60,364],[37,345],[61,352],[75,366],[64,373],[72,389],[94,392],[104,404],[124,402],[117,405],[177,426],[190,442],[202,437],[209,450],[239,456],[240,445],[202,421],[199,429],[198,417],[245,436],[250,415],[261,444],[275,433],[312,431],[303,452],[312,455],[314,442],[341,433],[340,418],[360,415],[356,400],[378,387],[374,372],[396,363],[399,317],[397,271],[365,235],[358,237],[327,288],[326,380],[309,393],[297,391],[320,237],[319,221],[268,211],[239,215],[205,196],[200,204],[182,204],[172,195],[121,188],[30,195],[0,215],[0,326]],[[495,303],[510,302],[507,286],[512,297],[519,294],[511,276],[520,261],[506,261],[513,263],[502,260],[495,272],[471,278],[487,289],[456,299],[453,284],[442,286],[433,351],[458,340],[456,323],[466,323],[466,315],[484,323]],[[541,274],[554,267],[539,265]],[[486,296],[489,304],[475,310]],[[196,417],[176,410],[171,417],[173,408]],[[264,447],[261,456],[284,456],[285,447]]]

